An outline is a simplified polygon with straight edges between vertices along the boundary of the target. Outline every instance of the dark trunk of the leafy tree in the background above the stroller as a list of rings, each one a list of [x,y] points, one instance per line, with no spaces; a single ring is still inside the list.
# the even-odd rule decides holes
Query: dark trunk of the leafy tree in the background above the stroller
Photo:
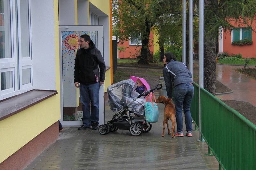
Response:
[[[138,63],[139,64],[148,64],[148,59],[150,57],[150,50],[149,50],[149,34],[151,29],[151,24],[146,20],[145,21],[146,31],[143,32],[141,35],[141,50],[140,56],[138,56]]]

